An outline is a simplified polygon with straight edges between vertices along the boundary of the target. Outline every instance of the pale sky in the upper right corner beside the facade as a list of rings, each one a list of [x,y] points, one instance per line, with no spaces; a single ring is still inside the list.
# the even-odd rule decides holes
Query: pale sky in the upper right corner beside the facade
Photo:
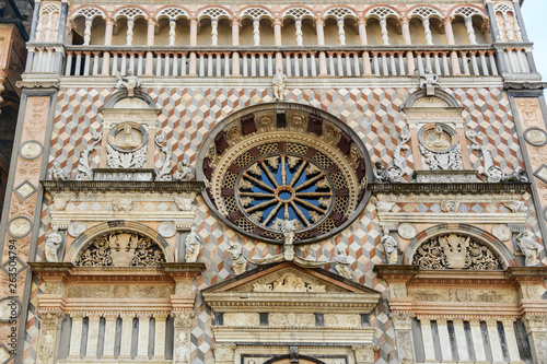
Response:
[[[534,43],[538,72],[547,80],[547,0],[524,0],[522,13],[528,38]]]

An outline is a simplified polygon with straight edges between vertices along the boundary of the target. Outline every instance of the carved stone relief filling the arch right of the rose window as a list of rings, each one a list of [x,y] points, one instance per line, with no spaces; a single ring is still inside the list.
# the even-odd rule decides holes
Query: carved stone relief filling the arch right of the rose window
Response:
[[[457,234],[437,236],[421,244],[414,263],[423,269],[502,269],[490,248]]]

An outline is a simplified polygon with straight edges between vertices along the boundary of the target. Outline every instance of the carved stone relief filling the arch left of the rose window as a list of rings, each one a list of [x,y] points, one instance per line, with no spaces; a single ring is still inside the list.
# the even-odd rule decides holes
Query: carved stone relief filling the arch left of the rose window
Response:
[[[96,237],[80,256],[81,267],[155,267],[165,262],[163,250],[137,233],[107,233]]]

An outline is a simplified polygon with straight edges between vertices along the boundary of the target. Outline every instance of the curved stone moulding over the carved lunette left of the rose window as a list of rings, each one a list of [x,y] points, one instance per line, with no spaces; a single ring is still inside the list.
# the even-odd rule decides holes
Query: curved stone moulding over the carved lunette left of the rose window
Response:
[[[160,246],[165,256],[167,262],[173,262],[175,255],[168,243],[155,230],[147,226],[142,223],[135,221],[115,220],[104,223],[100,223],[95,226],[88,228],[85,232],[80,234],[70,245],[67,254],[65,255],[65,261],[75,263],[77,259],[80,257],[80,253],[83,251],[98,235],[116,232],[116,231],[128,231],[140,233]]]

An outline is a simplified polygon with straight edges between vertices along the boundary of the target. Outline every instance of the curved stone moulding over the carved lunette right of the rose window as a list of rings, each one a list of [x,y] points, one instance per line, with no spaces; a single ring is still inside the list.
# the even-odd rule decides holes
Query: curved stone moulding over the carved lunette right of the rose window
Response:
[[[503,269],[509,267],[517,266],[514,255],[509,250],[509,248],[492,234],[484,231],[482,228],[468,225],[468,224],[439,224],[431,226],[423,232],[419,233],[405,249],[403,263],[411,265],[414,256],[420,245],[430,240],[439,235],[458,233],[466,236],[472,236],[476,238],[480,244],[492,249],[493,254],[501,261]]]

